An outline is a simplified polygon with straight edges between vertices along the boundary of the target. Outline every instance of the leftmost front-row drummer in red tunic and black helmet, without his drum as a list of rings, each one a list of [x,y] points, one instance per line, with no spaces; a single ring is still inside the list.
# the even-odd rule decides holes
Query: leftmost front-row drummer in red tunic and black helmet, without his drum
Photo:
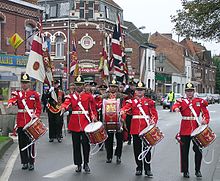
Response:
[[[22,169],[34,170],[34,144],[30,147],[21,151],[22,148],[26,147],[31,143],[30,138],[27,136],[23,128],[33,118],[39,118],[41,114],[41,101],[40,95],[34,90],[30,90],[30,77],[26,73],[21,74],[21,90],[12,92],[12,97],[8,100],[8,108],[12,105],[18,106],[17,113],[17,133],[18,133],[18,144],[20,150]],[[31,116],[22,103],[25,100],[27,107],[30,109]]]

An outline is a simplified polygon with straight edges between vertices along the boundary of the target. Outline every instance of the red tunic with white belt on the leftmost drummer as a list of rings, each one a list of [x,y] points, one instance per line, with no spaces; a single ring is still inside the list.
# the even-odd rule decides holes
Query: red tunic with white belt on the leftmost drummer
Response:
[[[22,93],[20,97],[19,92]],[[31,117],[26,112],[22,99],[26,101],[28,108],[33,112],[37,117],[40,117],[41,114],[41,101],[40,94],[34,90],[27,91],[14,91],[12,92],[12,97],[8,100],[8,104],[17,105],[17,127],[24,127],[28,122],[30,122]]]

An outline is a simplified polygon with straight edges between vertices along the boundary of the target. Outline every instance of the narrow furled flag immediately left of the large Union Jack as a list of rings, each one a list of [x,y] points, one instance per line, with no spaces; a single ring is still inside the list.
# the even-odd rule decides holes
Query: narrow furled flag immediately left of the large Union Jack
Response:
[[[107,79],[107,77],[109,76],[106,38],[104,38],[103,40],[102,56],[99,62],[99,72],[101,72],[101,76],[103,80]]]

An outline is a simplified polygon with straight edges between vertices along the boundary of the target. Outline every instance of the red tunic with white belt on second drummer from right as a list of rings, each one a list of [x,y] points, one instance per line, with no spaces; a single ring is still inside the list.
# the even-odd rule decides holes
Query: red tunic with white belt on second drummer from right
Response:
[[[136,102],[137,101],[137,102]],[[126,105],[123,106],[121,111],[127,113],[128,111],[132,111],[132,120],[131,120],[131,130],[130,134],[139,134],[144,128],[146,128],[147,122],[143,118],[142,113],[140,112],[139,108],[137,107],[138,104],[141,104],[145,114],[149,116],[150,121],[153,121],[155,124],[158,121],[158,113],[155,108],[155,102],[149,98],[142,97],[142,98],[132,98],[127,100]],[[126,114],[123,115],[125,118]]]

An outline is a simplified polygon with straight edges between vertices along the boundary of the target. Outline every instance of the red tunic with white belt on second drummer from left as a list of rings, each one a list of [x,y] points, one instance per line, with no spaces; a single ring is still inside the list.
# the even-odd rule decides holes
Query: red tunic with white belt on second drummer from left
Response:
[[[77,100],[73,97],[74,94],[77,96]],[[89,124],[88,119],[83,114],[82,109],[78,105],[79,101],[81,102],[91,121],[97,117],[95,100],[91,93],[82,92],[78,94],[75,92],[73,94],[67,95],[61,107],[65,108],[66,110],[69,106],[72,107],[72,114],[70,115],[68,129],[75,132],[84,131],[85,127]]]

